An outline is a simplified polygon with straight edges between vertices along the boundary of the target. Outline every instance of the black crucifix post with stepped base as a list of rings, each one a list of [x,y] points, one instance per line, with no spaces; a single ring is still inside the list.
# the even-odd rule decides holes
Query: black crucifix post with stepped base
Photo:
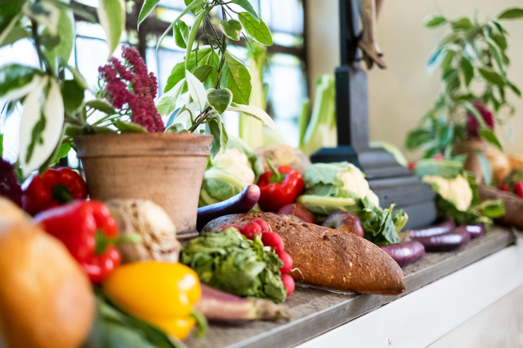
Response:
[[[335,70],[338,146],[323,148],[312,162],[349,161],[365,172],[380,205],[396,203],[404,208],[407,228],[426,226],[436,219],[435,194],[394,156],[383,149],[369,148],[369,98],[367,72],[360,66],[358,1],[339,0],[341,66]]]

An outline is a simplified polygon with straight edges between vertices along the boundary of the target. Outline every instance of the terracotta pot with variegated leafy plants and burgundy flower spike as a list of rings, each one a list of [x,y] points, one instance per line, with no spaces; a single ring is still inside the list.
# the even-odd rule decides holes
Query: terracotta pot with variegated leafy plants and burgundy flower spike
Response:
[[[157,3],[144,2],[139,22]],[[99,69],[97,98],[88,101],[84,78],[66,63],[74,39],[72,13],[82,15],[81,9],[56,0],[17,0],[6,6],[0,44],[32,37],[41,65],[38,69],[11,64],[0,70],[0,97],[9,100],[9,108],[18,102],[24,105],[18,160],[24,175],[43,171],[74,147],[92,198],[150,199],[166,209],[178,231],[194,230],[209,149],[215,155],[227,146],[222,113],[240,112],[277,128],[264,111],[248,105],[248,70],[226,50],[227,40],[239,39],[243,28],[253,39],[272,44],[265,23],[247,1],[241,2],[246,12],[237,13],[238,20],[227,20],[232,9],[221,1],[187,3],[170,29],[175,28],[176,42],[189,58],[175,66],[157,105],[156,79],[147,73],[138,52],[124,47],[124,63],[111,58],[125,23],[122,0],[99,2],[110,55],[109,63]],[[195,44],[198,27],[209,23],[214,7],[222,8],[222,34],[212,28],[212,35],[206,33]],[[196,21],[189,29],[180,18],[191,10]],[[204,41],[208,45],[202,46]],[[73,79],[59,78],[64,69]],[[188,94],[188,103],[177,105],[187,99],[180,98],[183,94]],[[158,111],[166,116],[165,124]]]

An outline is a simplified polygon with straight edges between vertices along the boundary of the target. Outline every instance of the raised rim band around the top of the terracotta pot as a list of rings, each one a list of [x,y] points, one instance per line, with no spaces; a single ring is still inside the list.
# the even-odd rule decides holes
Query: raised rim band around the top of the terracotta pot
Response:
[[[77,157],[210,156],[212,135],[194,133],[88,134],[74,137]]]

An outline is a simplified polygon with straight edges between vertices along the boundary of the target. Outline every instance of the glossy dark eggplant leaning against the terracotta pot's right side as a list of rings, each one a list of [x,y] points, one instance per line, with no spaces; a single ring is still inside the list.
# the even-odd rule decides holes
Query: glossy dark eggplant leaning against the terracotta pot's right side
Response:
[[[253,209],[260,199],[260,188],[255,185],[247,185],[236,196],[224,201],[198,208],[196,228],[201,230],[209,221],[222,217],[223,215],[246,213]]]

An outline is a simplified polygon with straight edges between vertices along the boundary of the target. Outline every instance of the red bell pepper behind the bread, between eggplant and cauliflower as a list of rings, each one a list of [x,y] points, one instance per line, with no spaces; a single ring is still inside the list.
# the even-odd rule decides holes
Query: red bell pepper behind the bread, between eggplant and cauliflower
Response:
[[[258,204],[264,211],[277,212],[281,207],[292,203],[303,192],[303,177],[288,165],[278,169],[267,159],[270,170],[258,179],[260,199]]]

